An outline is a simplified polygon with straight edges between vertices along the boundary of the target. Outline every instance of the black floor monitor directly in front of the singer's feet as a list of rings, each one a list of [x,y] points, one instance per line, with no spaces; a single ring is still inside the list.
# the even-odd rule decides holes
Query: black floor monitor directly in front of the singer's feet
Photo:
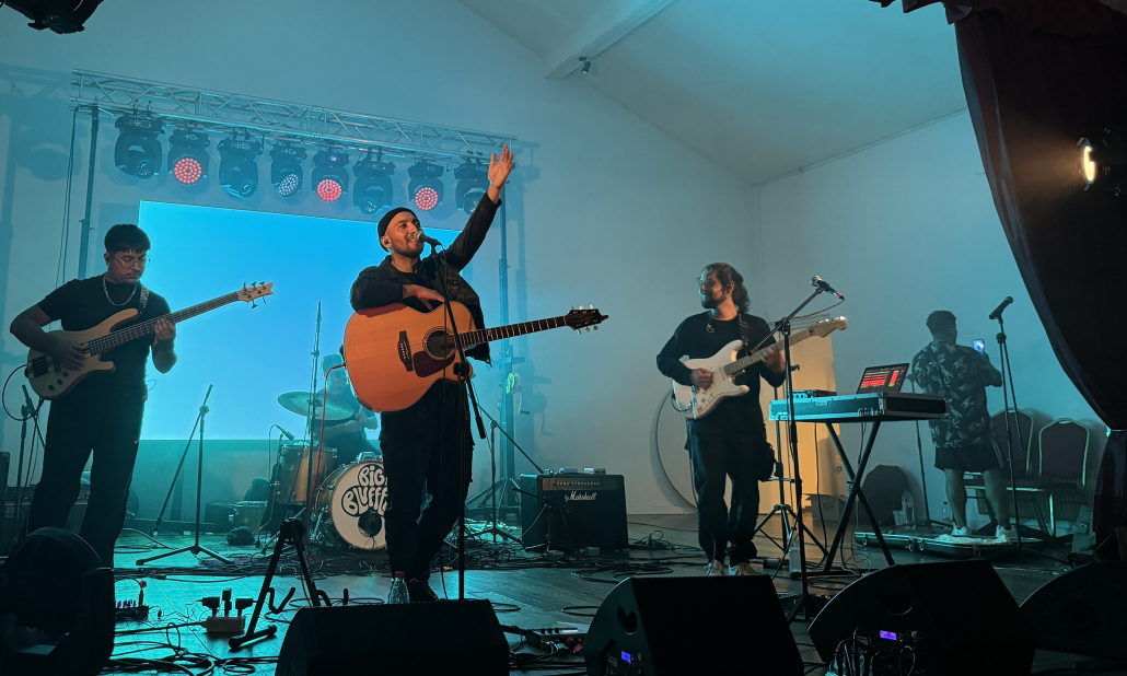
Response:
[[[508,642],[488,601],[302,608],[277,676],[507,676]]]

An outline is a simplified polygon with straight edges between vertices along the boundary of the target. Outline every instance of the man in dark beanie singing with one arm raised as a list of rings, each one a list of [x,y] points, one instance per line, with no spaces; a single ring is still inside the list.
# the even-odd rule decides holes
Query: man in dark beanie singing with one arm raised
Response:
[[[389,256],[378,266],[364,268],[352,286],[354,310],[403,303],[420,312],[441,306],[444,299],[440,275],[451,300],[470,310],[478,328],[485,328],[481,301],[459,274],[486,239],[500,205],[500,189],[513,170],[513,153],[506,145],[489,161],[489,190],[461,234],[437,256],[421,258],[423,226],[409,208],[393,208],[380,220],[380,246]],[[459,327],[460,331],[469,327]],[[478,345],[465,356],[489,362],[489,346]],[[437,601],[431,588],[431,561],[442,549],[461,512],[470,487],[473,438],[469,401],[461,383],[435,382],[415,404],[380,415],[380,446],[388,478],[384,513],[388,560],[391,570],[403,572],[412,602]],[[460,477],[464,452],[465,474]],[[429,495],[423,508],[424,490]]]

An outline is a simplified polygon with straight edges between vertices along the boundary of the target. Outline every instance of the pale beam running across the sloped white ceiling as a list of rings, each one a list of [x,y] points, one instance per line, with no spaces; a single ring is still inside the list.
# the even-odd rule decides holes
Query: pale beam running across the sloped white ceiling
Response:
[[[674,0],[618,0],[587,19],[564,44],[544,56],[544,77],[549,80],[566,78],[579,70],[583,56],[592,61],[611,48],[636,28],[648,21]]]

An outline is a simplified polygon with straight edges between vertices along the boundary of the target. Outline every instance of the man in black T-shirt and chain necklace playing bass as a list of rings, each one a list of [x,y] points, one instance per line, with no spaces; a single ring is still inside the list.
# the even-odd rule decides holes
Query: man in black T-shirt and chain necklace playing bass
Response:
[[[53,355],[65,367],[77,368],[86,356],[81,346],[52,336],[43,327],[61,321],[63,330],[82,331],[126,309],[144,321],[169,314],[168,302],[141,285],[149,263],[149,235],[136,225],[114,225],[106,233],[106,273],[73,279],[51,292],[11,322],[11,333],[24,345]],[[148,399],[145,361],[152,349],[157,371],[176,365],[172,341],[176,327],[160,320],[156,339],[137,338],[101,355],[114,371],[96,371],[51,403],[47,416],[43,474],[27,518],[28,531],[63,527],[82,480],[90,453],[90,501],[79,535],[101,564],[114,564],[114,543],[125,523],[125,502],[133,479],[141,417]]]

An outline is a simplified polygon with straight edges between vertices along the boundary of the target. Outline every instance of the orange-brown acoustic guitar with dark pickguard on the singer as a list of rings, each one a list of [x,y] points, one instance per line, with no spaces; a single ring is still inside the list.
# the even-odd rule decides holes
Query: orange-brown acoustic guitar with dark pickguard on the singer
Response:
[[[451,302],[463,348],[548,329],[598,329],[606,319],[594,308],[571,309],[564,317],[477,329],[469,309]],[[401,303],[361,310],[345,327],[345,363],[361,403],[373,411],[400,411],[423,399],[438,379],[460,381],[471,375],[454,345],[446,308],[419,312]]]

